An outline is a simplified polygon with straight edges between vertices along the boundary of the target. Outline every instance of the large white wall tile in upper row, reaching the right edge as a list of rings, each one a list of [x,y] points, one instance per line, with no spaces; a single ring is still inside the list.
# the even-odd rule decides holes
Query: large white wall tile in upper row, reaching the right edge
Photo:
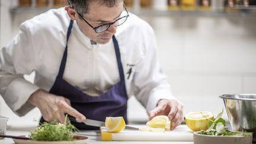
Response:
[[[188,28],[185,69],[217,72],[256,72],[256,31],[248,33],[251,18],[199,18],[197,27]],[[256,21],[256,19],[254,19]],[[255,24],[255,22],[254,22]]]

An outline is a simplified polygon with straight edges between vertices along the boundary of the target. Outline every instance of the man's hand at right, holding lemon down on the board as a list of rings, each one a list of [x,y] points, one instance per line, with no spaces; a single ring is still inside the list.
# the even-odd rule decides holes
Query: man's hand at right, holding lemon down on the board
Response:
[[[171,130],[174,130],[183,120],[183,104],[177,100],[159,100],[156,108],[149,111],[149,120],[159,115],[168,116],[171,120]]]

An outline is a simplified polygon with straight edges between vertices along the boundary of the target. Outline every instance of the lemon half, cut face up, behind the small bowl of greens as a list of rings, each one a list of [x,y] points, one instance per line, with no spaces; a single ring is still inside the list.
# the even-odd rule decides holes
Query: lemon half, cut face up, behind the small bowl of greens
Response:
[[[194,132],[209,129],[209,121],[213,120],[213,114],[209,111],[191,112],[185,115],[185,123]]]

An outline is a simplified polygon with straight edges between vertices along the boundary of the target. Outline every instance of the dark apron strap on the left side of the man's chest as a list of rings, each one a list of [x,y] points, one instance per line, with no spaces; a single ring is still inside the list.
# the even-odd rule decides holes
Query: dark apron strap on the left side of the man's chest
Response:
[[[73,20],[71,20],[70,23],[69,23],[68,34],[67,34],[67,37],[66,37],[66,48],[65,48],[65,51],[63,53],[62,62],[60,64],[59,73],[57,75],[57,78],[62,78],[63,77],[63,73],[64,73],[65,66],[66,66],[66,59],[67,59],[67,56],[68,56],[68,40],[69,40],[69,36],[71,35],[72,27],[73,27]]]

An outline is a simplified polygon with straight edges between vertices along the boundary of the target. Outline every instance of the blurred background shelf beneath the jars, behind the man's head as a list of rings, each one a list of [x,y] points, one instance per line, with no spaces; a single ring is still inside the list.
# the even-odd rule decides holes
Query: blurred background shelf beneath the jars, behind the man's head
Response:
[[[47,8],[20,8],[15,7],[11,9],[11,13],[14,15],[17,14],[41,14],[45,11],[48,11],[53,7]],[[253,9],[244,9],[244,8],[236,8],[232,9],[232,12],[226,11],[183,11],[183,10],[155,10],[155,9],[128,9],[128,11],[133,12],[136,15],[140,16],[183,16],[183,15],[199,15],[199,16],[209,16],[209,17],[229,17],[229,16],[243,16],[243,17],[255,17],[256,16],[256,8]],[[253,11],[253,12],[252,12]]]

